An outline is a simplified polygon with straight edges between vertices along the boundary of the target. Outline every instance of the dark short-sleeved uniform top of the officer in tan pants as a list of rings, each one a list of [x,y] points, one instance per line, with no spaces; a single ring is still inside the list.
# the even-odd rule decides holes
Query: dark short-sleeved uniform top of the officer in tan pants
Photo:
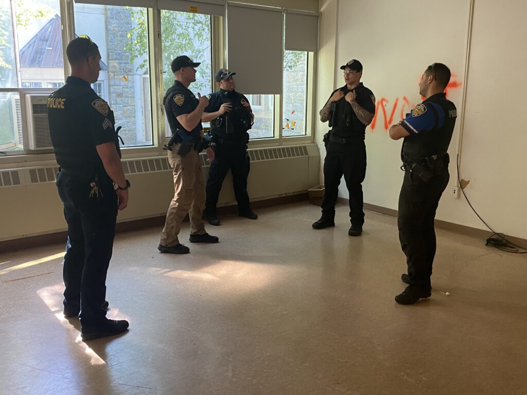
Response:
[[[181,140],[187,142],[196,142],[200,138],[200,132],[203,129],[201,121],[191,131],[185,130],[178,122],[177,117],[183,114],[190,114],[196,110],[199,100],[192,92],[188,90],[181,82],[174,81],[174,85],[168,88],[163,98],[165,112],[167,113],[168,123],[172,134],[181,131],[179,136]]]

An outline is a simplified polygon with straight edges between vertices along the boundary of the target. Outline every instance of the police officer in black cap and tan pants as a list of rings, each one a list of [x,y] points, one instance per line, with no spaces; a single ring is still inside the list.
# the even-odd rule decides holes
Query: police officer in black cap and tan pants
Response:
[[[189,214],[191,243],[217,243],[219,239],[205,231],[203,208],[205,185],[199,161],[199,152],[207,145],[203,141],[201,115],[209,100],[206,96],[194,96],[188,86],[196,81],[196,68],[188,56],[178,56],[171,63],[175,81],[163,99],[165,112],[172,131],[168,144],[168,160],[173,168],[174,197],[170,202],[167,219],[161,233],[158,250],[163,253],[184,254],[190,252],[179,242],[178,235],[183,219]],[[206,148],[209,161],[214,152]]]

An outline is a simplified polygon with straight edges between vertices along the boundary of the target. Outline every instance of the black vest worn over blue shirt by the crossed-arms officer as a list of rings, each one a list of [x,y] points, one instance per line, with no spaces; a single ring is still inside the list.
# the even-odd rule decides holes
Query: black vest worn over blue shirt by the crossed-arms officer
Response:
[[[441,106],[444,122],[438,127],[439,117],[434,106],[429,106],[435,117],[435,126],[431,131],[411,134],[404,138],[403,160],[422,161],[425,157],[445,154],[452,139],[454,125],[456,123],[457,110],[454,103],[448,100],[444,93],[438,93],[428,97],[423,103],[436,103]]]

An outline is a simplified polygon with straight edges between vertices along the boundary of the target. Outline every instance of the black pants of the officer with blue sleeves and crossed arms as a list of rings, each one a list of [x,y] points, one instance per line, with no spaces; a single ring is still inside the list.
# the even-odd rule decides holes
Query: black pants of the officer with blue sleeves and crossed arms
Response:
[[[444,170],[424,182],[415,173],[407,171],[399,194],[397,226],[410,282],[427,290],[431,289],[436,249],[435,212],[449,177],[448,170]]]

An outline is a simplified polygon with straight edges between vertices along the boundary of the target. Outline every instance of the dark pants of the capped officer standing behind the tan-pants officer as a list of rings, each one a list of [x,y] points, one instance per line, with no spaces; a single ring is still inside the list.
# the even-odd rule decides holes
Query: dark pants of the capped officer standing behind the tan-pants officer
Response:
[[[207,215],[216,215],[221,184],[229,169],[232,173],[232,184],[238,202],[238,212],[242,213],[249,210],[247,177],[249,176],[250,160],[247,155],[247,145],[245,142],[237,144],[217,143],[207,180],[207,201],[205,205]]]

